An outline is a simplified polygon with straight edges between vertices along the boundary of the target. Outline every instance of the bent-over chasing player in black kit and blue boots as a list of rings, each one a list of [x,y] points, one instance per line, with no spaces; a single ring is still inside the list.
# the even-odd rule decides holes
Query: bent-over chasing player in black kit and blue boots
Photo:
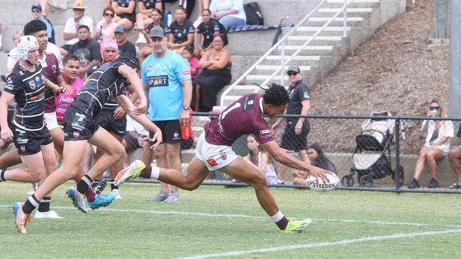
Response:
[[[102,104],[109,97],[121,105],[134,120],[146,129],[155,132],[152,139],[156,143],[152,148],[157,148],[158,144],[162,142],[162,133],[145,115],[147,99],[135,69],[139,69],[138,59],[132,54],[121,54],[117,61],[103,64],[89,76],[82,90],[65,112],[65,144],[62,166],[51,173],[26,202],[18,202],[13,205],[16,229],[19,233],[26,234],[26,224],[30,222],[30,213],[38,207],[38,201],[59,185],[77,175],[79,163],[88,142],[104,149],[106,153],[79,180],[77,190],[70,188],[70,190],[67,190],[67,195],[70,196],[74,205],[82,212],[87,210],[82,195],[87,196],[91,209],[107,206],[113,201],[114,194],[108,196],[98,195],[91,189],[91,179],[99,177],[113,163],[120,161],[125,153],[125,149],[120,142],[117,142],[106,129],[94,124],[94,117],[100,113]],[[126,87],[123,82],[126,79],[131,82],[128,90],[133,91],[136,98],[140,100],[138,107],[135,107],[132,101],[123,94]]]

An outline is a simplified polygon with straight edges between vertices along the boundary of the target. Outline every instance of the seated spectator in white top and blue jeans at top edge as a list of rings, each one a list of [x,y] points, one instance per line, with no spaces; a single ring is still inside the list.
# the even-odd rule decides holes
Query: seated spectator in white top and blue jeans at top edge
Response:
[[[242,0],[213,0],[210,4],[211,15],[224,25],[226,30],[233,25],[245,25],[247,16]]]

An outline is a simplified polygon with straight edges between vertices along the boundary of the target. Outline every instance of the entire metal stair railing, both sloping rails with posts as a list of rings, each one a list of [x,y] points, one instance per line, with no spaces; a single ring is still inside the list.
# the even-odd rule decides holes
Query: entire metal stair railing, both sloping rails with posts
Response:
[[[292,59],[294,59],[294,57],[296,57],[297,54],[299,54],[299,52],[301,52],[301,50],[304,49],[304,47],[306,47],[306,45],[308,45],[310,42],[312,42],[312,40],[314,40],[320,33],[323,32],[323,30],[328,26],[330,25],[330,23],[332,21],[334,21],[335,18],[337,18],[340,13],[343,12],[344,14],[344,21],[343,21],[343,37],[347,37],[348,35],[348,28],[347,28],[347,6],[352,3],[352,1],[354,0],[344,0],[344,5],[342,8],[340,8],[340,11],[338,11],[337,13],[335,13],[335,15],[330,18],[330,20],[328,20],[316,33],[314,33],[311,38],[309,40],[307,40],[304,45],[302,45],[301,47],[299,47],[298,50],[296,50],[296,52],[294,52],[294,54],[291,54],[291,56],[287,59],[287,62],[285,62],[284,60],[284,45],[285,45],[285,41],[289,38],[289,36],[291,34],[293,34],[297,28],[299,28],[300,25],[302,25],[304,22],[306,22],[309,18],[311,18],[311,16],[313,15],[313,13],[316,13],[316,11],[318,11],[319,8],[321,8],[324,4],[326,4],[327,0],[323,0],[321,1],[320,4],[318,4],[315,8],[313,8],[312,11],[310,11],[306,16],[304,16],[304,18],[301,19],[301,21],[299,21],[299,23],[296,23],[296,25],[291,28],[291,30],[286,34],[284,35],[284,37],[282,37],[282,39],[280,39],[275,45],[273,45],[269,50],[267,50],[267,52],[265,54],[262,55],[262,57],[260,57],[260,59],[257,60],[257,62],[255,62],[255,64],[253,64],[247,71],[245,71],[245,73],[243,73],[237,80],[235,80],[233,82],[233,84],[231,84],[228,88],[226,88],[225,91],[223,91],[223,93],[221,94],[221,99],[220,99],[220,105],[224,105],[224,98],[227,96],[227,94],[235,87],[237,86],[238,84],[240,84],[241,81],[243,81],[245,79],[246,76],[248,76],[252,71],[255,70],[255,68],[257,67],[257,65],[261,64],[262,61],[264,61],[266,59],[267,56],[269,56],[277,47],[279,47],[280,45],[282,45],[282,48],[281,48],[281,64],[280,64],[280,67],[274,72],[272,73],[272,75],[270,75],[265,81],[264,83],[262,84],[262,86],[265,86],[266,84],[269,83],[269,81],[271,81],[274,76],[277,74],[277,73],[280,73],[280,76],[281,76],[281,84],[283,85],[284,84],[284,74],[283,74],[283,68],[284,68],[284,65],[285,64],[288,64],[289,62],[291,62]],[[257,91],[259,91],[259,89],[256,89],[254,91],[254,93],[257,93]]]

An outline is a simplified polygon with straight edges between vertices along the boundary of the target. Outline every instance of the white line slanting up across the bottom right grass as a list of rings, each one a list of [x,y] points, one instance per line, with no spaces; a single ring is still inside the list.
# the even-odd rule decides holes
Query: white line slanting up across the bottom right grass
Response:
[[[272,247],[272,248],[263,248],[263,249],[246,250],[246,251],[212,253],[209,255],[193,255],[193,256],[187,256],[187,257],[182,257],[178,259],[218,258],[218,257],[226,257],[226,256],[248,255],[250,253],[267,253],[267,252],[286,251],[286,250],[293,250],[293,249],[300,249],[300,248],[319,248],[319,247],[326,247],[326,246],[340,246],[340,245],[348,245],[350,243],[362,243],[362,242],[367,242],[367,241],[382,241],[382,240],[387,240],[387,239],[413,238],[416,236],[434,236],[434,235],[452,234],[452,233],[461,233],[461,229],[450,229],[450,230],[444,230],[444,231],[426,231],[426,232],[416,232],[416,233],[409,233],[409,234],[395,234],[395,235],[389,235],[389,236],[370,236],[370,237],[357,238],[357,239],[345,239],[345,240],[336,241],[336,242],[306,243],[304,245],[278,246],[278,247]]]

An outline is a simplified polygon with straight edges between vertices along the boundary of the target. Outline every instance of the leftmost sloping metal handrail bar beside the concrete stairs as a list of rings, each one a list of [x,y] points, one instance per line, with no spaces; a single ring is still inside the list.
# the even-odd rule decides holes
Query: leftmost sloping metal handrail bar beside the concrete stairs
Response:
[[[312,11],[310,11],[308,14],[306,14],[306,16],[304,16],[304,18],[302,18],[301,21],[299,21],[299,23],[296,23],[296,25],[294,25],[294,27],[291,28],[291,30],[286,35],[284,35],[282,37],[282,39],[280,39],[275,45],[273,45],[269,50],[267,50],[267,52],[265,54],[263,54],[262,57],[260,57],[260,59],[257,59],[257,62],[255,62],[255,64],[253,64],[249,69],[247,69],[247,71],[245,71],[245,73],[243,73],[237,80],[235,80],[233,82],[233,84],[231,84],[225,91],[223,91],[223,93],[221,94],[221,99],[220,99],[221,105],[224,105],[224,97],[232,90],[232,88],[234,86],[237,86],[238,84],[240,84],[240,82],[243,81],[243,79],[245,79],[245,77],[248,76],[248,74],[250,74],[253,70],[255,70],[257,65],[259,65],[262,61],[264,61],[264,59],[267,56],[269,56],[272,53],[272,51],[274,51],[277,47],[279,47],[280,44],[282,44],[282,42],[287,40],[288,36],[291,35],[292,33],[294,33],[296,31],[296,29],[301,24],[303,24],[307,19],[309,19],[313,15],[313,13],[315,13],[319,8],[321,8],[321,6],[323,6],[323,4],[326,3],[326,1],[328,1],[328,0],[321,1],[320,4],[318,4],[316,6],[316,8],[313,8]],[[347,1],[347,0],[345,0],[345,1]],[[351,1],[353,1],[353,0],[351,0]],[[264,84],[262,84],[262,86],[264,86]]]

